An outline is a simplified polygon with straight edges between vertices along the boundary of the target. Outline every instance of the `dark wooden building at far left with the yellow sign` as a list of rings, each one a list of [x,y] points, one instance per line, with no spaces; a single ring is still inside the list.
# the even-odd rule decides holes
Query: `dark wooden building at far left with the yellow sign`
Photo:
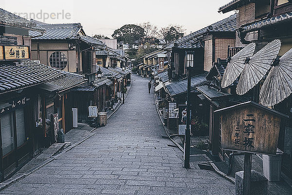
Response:
[[[45,29],[0,9],[0,180],[44,146],[39,87],[66,73],[31,61],[29,31]]]

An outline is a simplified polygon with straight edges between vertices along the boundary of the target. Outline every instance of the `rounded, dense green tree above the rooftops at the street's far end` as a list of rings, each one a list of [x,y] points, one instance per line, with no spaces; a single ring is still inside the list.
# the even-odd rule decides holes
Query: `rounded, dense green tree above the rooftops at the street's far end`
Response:
[[[118,42],[124,41],[133,45],[139,38],[144,37],[144,28],[135,24],[126,24],[115,30],[111,36]]]

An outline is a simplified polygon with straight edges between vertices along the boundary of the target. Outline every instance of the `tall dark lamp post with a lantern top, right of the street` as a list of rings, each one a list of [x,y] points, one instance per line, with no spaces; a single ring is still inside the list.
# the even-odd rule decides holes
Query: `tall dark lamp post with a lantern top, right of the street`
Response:
[[[186,55],[188,57],[188,55]],[[190,168],[190,139],[191,139],[191,130],[190,130],[190,95],[191,95],[191,75],[190,69],[194,67],[194,62],[186,60],[186,69],[187,69],[187,91],[186,91],[186,128],[184,134],[184,168]]]

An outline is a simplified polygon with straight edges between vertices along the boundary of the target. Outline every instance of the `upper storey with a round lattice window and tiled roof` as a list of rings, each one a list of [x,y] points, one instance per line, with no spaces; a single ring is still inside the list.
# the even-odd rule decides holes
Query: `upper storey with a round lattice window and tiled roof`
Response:
[[[95,71],[95,50],[103,50],[105,45],[86,36],[80,23],[32,22],[46,30],[43,34],[30,31],[33,60],[73,73],[90,74]]]

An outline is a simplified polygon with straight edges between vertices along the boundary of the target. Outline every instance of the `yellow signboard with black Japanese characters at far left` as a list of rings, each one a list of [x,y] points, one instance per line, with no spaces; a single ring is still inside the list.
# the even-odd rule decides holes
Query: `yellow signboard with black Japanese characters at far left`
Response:
[[[1,48],[0,48],[1,49]],[[29,59],[29,46],[3,46],[3,59]],[[0,58],[1,59],[1,58]]]

